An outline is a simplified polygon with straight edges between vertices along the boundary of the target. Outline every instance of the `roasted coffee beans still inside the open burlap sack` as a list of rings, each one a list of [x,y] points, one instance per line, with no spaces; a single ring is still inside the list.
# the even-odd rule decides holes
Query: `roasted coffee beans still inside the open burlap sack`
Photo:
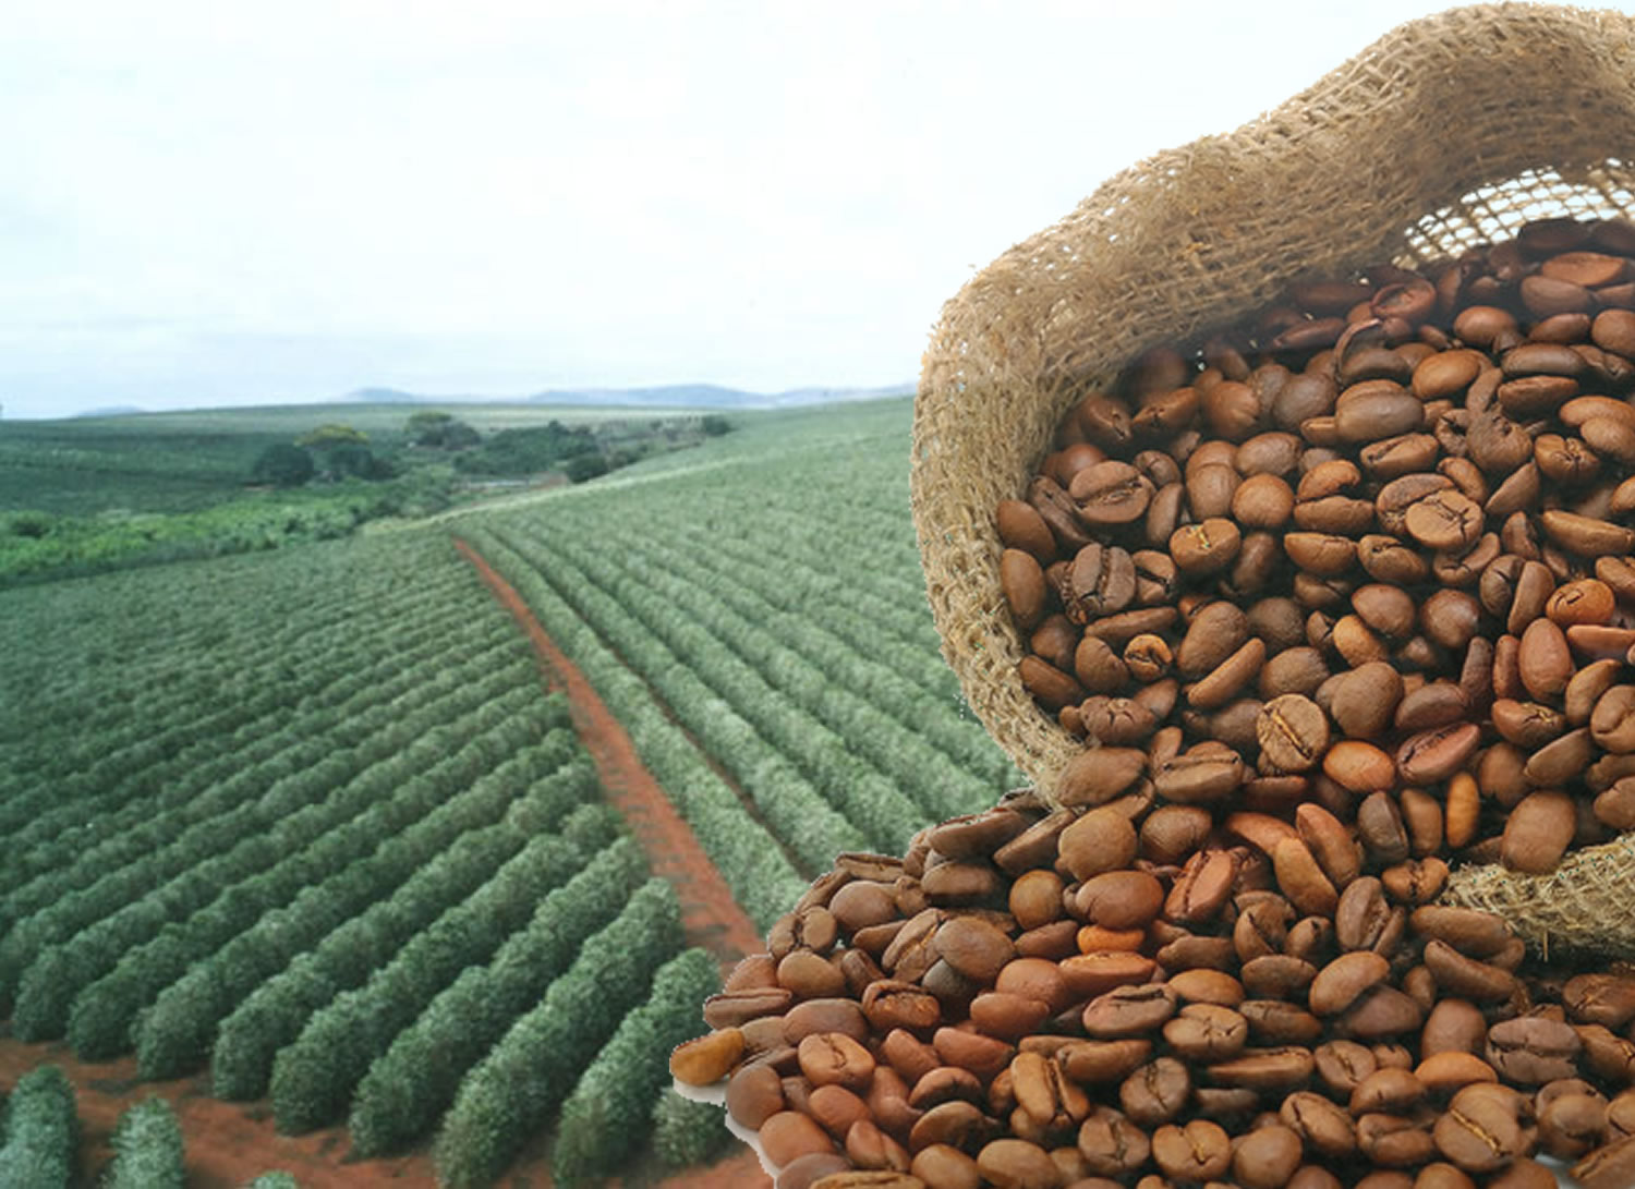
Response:
[[[1552,219],[1084,396],[996,515],[1020,679],[1102,744],[1059,798],[1532,873],[1635,828],[1632,360],[1635,224]]]

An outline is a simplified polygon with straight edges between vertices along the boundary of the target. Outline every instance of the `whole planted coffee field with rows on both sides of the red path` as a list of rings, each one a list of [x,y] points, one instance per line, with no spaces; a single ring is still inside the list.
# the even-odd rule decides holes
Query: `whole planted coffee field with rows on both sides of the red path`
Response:
[[[271,1124],[267,1168],[306,1135],[410,1184],[714,1158],[664,1055],[723,963],[837,852],[1019,782],[937,653],[909,402],[732,422],[419,527],[0,592],[0,1088],[106,1068]]]

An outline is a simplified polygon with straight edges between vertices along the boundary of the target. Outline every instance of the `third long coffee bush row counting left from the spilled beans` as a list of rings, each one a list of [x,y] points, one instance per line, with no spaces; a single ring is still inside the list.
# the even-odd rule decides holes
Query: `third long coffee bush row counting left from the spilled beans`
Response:
[[[379,1156],[430,1132],[466,1070],[540,1001],[646,878],[641,849],[623,837],[546,896],[492,962],[468,967],[370,1066],[347,1124],[353,1150]]]

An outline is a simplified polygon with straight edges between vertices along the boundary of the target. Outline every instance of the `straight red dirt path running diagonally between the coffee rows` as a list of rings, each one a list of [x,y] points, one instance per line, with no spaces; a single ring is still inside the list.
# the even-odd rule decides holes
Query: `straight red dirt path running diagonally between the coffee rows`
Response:
[[[469,543],[455,538],[455,548],[476,568],[494,597],[528,635],[551,689],[567,693],[574,729],[597,764],[608,801],[629,823],[631,834],[646,852],[652,873],[669,880],[682,901],[682,927],[688,945],[708,949],[723,965],[737,962],[746,953],[759,953],[764,947],[755,926],[732,900],[732,891],[698,846],[692,826],[682,819],[670,798],[664,795],[664,788],[643,765],[629,734],[608,711],[595,689],[546,635],[515,587]]]

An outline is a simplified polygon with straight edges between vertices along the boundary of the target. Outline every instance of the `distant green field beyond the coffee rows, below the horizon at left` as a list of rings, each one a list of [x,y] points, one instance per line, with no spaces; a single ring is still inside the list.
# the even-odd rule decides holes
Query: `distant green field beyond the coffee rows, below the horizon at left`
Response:
[[[0,420],[0,587],[334,540],[383,518],[564,482],[559,469],[463,471],[458,455],[414,445],[409,417],[433,409],[311,404]],[[692,445],[701,424],[685,411],[473,404],[450,412],[486,443],[507,430],[585,427],[613,464]],[[250,484],[263,451],[320,425],[363,433],[389,478]]]

